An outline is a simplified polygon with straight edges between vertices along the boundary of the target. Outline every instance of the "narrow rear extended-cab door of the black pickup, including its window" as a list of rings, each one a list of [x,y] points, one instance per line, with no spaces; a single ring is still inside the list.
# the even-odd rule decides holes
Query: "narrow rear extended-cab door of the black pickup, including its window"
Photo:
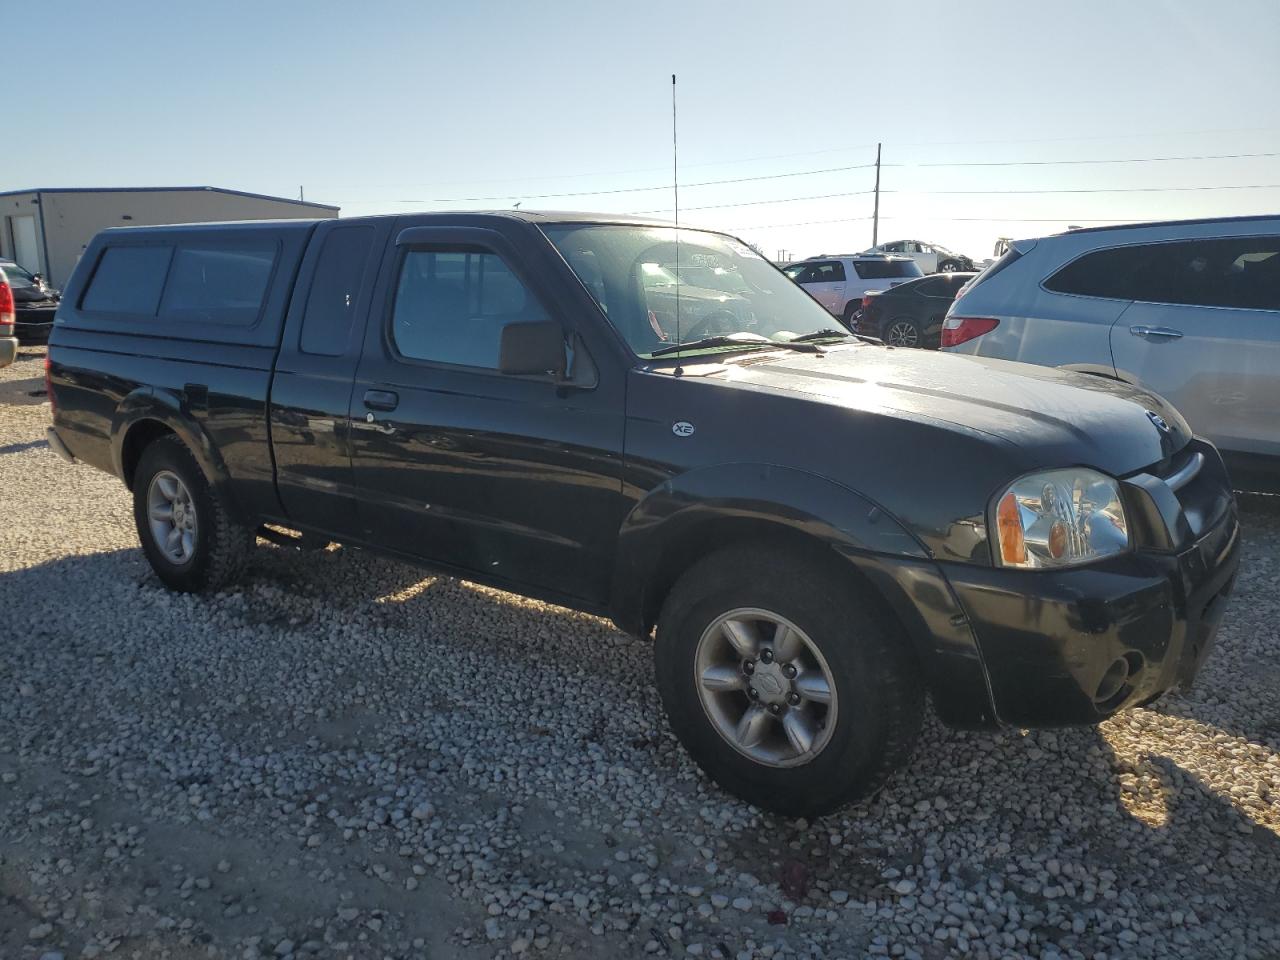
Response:
[[[275,484],[287,518],[342,536],[358,530],[348,415],[376,253],[390,223],[320,224],[298,270],[271,380]]]

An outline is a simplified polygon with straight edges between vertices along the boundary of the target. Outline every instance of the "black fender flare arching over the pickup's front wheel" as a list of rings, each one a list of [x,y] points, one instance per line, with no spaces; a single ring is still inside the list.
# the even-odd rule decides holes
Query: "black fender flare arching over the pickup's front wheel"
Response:
[[[842,553],[931,557],[893,515],[844,484],[772,463],[718,463],[668,479],[623,520],[611,590],[614,622],[645,632],[668,548],[727,520],[767,524]]]

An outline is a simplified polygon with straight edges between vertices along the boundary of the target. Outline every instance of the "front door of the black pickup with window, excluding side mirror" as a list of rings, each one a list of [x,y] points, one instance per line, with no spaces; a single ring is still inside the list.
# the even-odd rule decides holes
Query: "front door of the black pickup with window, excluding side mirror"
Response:
[[[623,383],[590,372],[571,329],[573,387],[499,372],[504,326],[573,315],[543,260],[529,265],[538,253],[489,229],[399,234],[352,393],[360,520],[380,547],[603,605],[625,509]]]

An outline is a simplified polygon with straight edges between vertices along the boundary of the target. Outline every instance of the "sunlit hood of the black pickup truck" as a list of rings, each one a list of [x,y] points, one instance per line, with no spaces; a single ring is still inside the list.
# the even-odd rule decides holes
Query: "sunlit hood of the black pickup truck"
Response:
[[[1027,470],[1092,466],[1123,476],[1176,453],[1192,436],[1166,401],[1119,380],[968,355],[858,344],[820,356],[745,358],[726,365],[722,376],[978,431],[1016,448]]]

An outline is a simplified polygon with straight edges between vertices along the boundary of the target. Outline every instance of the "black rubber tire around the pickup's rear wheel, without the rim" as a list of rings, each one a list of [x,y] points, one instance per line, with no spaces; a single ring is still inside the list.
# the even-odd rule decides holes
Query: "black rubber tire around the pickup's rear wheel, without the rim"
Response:
[[[156,543],[147,520],[147,492],[156,474],[177,474],[196,511],[191,558],[174,563]],[[234,584],[244,572],[253,549],[248,527],[232,518],[223,498],[210,486],[195,456],[177,436],[163,436],[142,452],[133,475],[133,521],[138,540],[156,576],[172,590],[215,593]]]

